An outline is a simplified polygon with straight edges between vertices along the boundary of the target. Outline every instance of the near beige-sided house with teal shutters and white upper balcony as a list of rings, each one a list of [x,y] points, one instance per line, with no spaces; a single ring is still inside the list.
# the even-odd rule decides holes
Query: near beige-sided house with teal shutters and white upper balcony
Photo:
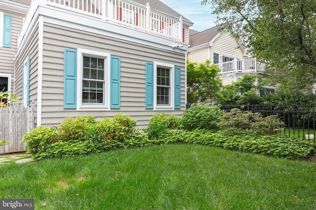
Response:
[[[123,113],[149,124],[186,104],[188,30],[159,0],[0,0],[0,87],[35,124]]]

